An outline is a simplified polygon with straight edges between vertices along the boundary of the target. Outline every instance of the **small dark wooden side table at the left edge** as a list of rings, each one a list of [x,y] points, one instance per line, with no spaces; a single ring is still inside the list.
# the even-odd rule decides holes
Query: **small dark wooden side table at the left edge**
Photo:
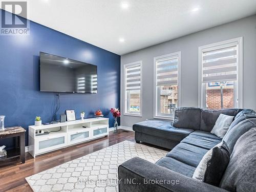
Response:
[[[8,127],[0,132],[0,139],[15,137],[15,148],[7,151],[7,156],[0,157],[0,164],[9,164],[10,159],[19,157],[22,163],[25,163],[25,132],[21,126]]]

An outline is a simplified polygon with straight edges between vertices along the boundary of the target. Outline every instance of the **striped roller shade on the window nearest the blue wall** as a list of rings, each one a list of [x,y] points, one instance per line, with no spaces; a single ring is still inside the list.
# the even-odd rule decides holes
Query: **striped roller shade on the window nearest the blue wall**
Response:
[[[140,90],[141,66],[140,63],[125,68],[125,90]]]

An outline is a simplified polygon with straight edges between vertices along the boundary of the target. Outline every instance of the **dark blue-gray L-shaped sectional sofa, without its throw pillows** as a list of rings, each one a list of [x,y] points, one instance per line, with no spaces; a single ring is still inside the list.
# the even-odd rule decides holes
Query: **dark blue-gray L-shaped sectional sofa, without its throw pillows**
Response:
[[[224,138],[210,133],[220,114],[234,116]],[[173,123],[160,120],[136,123],[133,125],[136,142],[172,150],[155,164],[140,158],[121,164],[119,191],[256,191],[255,127],[255,112],[241,109],[179,108]],[[203,156],[222,140],[229,148],[230,160],[220,185],[193,179]],[[127,182],[129,179],[136,182]],[[178,183],[166,183],[166,179]]]

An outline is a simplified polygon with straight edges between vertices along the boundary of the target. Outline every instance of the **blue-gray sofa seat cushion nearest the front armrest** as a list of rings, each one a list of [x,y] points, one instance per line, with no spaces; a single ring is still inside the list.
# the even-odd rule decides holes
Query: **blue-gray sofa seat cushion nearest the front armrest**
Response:
[[[156,162],[156,164],[173,170],[174,172],[177,172],[179,174],[185,175],[187,177],[192,177],[196,169],[193,166],[180,162],[171,157],[162,157]]]

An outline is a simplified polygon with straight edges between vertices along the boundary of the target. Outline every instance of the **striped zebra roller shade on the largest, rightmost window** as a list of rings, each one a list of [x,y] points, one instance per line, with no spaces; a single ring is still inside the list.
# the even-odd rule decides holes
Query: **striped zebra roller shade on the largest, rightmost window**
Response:
[[[203,51],[202,82],[237,80],[238,45]]]

